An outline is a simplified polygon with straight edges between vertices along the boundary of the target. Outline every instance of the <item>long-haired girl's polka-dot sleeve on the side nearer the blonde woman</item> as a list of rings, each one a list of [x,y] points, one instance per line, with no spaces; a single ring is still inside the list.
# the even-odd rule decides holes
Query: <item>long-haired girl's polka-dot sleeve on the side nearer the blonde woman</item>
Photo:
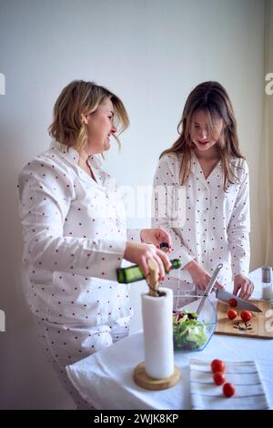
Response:
[[[185,189],[185,188],[184,188]],[[181,186],[174,178],[174,170],[170,166],[170,158],[165,156],[159,160],[154,177],[154,195],[152,201],[152,227],[162,227],[168,231],[173,242],[172,259],[179,259],[182,268],[195,256],[187,249],[178,226],[183,213],[179,211],[179,195]]]

